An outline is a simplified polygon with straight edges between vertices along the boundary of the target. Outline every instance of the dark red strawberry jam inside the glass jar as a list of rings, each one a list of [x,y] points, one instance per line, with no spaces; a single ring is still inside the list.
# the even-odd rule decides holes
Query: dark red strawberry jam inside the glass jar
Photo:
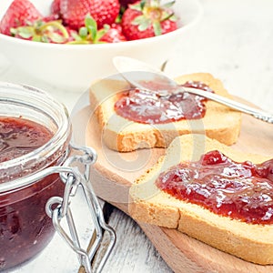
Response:
[[[5,164],[8,165],[9,160],[26,156],[45,145],[52,136],[45,126],[33,121],[0,116],[0,186],[11,180],[18,181],[23,174],[7,175]],[[36,164],[24,176],[40,167]],[[55,231],[45,214],[45,204],[48,198],[60,196],[63,188],[59,176],[51,175],[25,187],[0,191],[0,271],[34,257],[45,248]]]

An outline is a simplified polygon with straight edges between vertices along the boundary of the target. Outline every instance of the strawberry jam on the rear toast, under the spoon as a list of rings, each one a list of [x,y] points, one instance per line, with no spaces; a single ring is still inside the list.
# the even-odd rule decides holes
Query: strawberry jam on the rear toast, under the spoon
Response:
[[[148,83],[155,86],[157,83]],[[185,87],[199,88],[213,92],[201,82],[188,81]],[[149,87],[149,86],[147,86]],[[161,96],[160,92],[144,89],[129,89],[124,91],[116,101],[116,114],[138,123],[164,124],[181,119],[202,118],[206,114],[204,102],[206,98],[187,92],[172,93],[167,90],[167,95]]]

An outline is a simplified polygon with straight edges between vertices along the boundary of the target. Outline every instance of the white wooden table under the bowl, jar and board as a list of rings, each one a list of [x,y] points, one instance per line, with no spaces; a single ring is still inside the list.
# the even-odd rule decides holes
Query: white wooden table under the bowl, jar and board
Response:
[[[168,60],[167,73],[178,76],[209,72],[221,79],[231,94],[273,112],[273,2],[200,2],[204,17],[195,33],[176,48],[170,48],[173,56]],[[67,93],[18,71],[1,53],[0,80],[43,88],[63,102],[71,113],[79,105],[78,100],[86,104],[80,93]],[[79,213],[83,213],[82,209]],[[114,209],[109,223],[116,228],[117,242],[104,272],[171,272],[132,219]],[[88,231],[86,227],[85,232]],[[61,244],[59,238],[54,238],[38,258],[14,272],[76,272],[73,253],[60,247]]]

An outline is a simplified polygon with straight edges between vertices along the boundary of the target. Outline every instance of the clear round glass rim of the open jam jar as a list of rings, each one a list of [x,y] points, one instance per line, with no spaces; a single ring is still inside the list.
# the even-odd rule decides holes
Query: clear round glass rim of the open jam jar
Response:
[[[5,95],[1,94],[1,90],[5,90]],[[14,103],[22,104],[25,106],[28,103],[29,105],[31,105],[37,102],[40,104],[40,106],[45,106],[45,109],[41,109],[42,112],[46,111],[47,109],[51,112],[50,115],[57,116],[55,116],[57,119],[56,132],[53,132],[53,136],[43,146],[37,147],[35,148],[35,150],[21,157],[15,157],[8,161],[1,162],[0,170],[25,165],[27,162],[33,161],[36,158],[43,157],[44,155],[54,154],[57,148],[62,147],[62,145],[66,143],[67,137],[70,137],[71,122],[68,116],[66,106],[58,102],[53,96],[49,95],[44,90],[34,86],[18,85],[0,81],[0,101],[6,104]],[[5,115],[2,115],[2,113],[0,112],[0,116]],[[15,180],[12,179],[11,181],[0,183],[0,192],[6,190],[6,184],[10,184],[10,187],[12,187],[12,184],[15,184],[14,182],[19,179],[20,178],[15,178]],[[14,187],[19,187],[18,183],[16,183]]]

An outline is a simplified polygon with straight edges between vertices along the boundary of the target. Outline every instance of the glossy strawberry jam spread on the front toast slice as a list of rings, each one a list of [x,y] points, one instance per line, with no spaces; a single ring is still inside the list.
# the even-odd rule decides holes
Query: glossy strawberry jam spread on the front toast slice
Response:
[[[251,224],[273,224],[273,159],[237,163],[219,151],[161,173],[157,187],[178,199]]]

